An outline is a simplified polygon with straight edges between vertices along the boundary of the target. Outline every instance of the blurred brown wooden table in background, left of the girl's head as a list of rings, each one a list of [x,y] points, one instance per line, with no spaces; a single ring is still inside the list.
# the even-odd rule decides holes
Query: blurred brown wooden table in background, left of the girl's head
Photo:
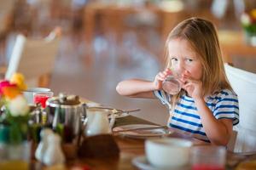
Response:
[[[136,8],[117,4],[90,3],[84,8],[85,39],[91,42],[98,27],[101,27],[102,31],[114,32],[120,38],[129,27],[125,24],[125,18],[131,14],[139,14],[145,11],[157,16],[159,21],[155,23],[154,27],[160,31],[160,37],[164,40],[172,28],[187,17],[183,8],[168,11],[154,5]]]

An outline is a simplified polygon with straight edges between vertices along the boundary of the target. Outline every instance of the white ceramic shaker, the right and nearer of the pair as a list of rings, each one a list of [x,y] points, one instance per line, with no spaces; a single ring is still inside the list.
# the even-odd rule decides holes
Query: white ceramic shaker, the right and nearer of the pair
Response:
[[[60,135],[52,133],[49,135],[47,140],[49,145],[44,153],[44,164],[48,166],[63,164],[65,161],[65,156],[61,150]]]

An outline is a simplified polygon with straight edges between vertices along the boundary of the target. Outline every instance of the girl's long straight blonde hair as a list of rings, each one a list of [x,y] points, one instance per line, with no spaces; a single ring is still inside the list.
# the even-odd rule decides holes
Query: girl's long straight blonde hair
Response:
[[[201,81],[204,95],[213,94],[224,88],[232,90],[225,75],[217,31],[212,22],[190,18],[179,23],[166,40],[166,67],[172,67],[168,54],[168,43],[173,39],[188,41],[191,48],[198,54],[203,68]],[[174,102],[182,93],[183,91],[173,96]]]

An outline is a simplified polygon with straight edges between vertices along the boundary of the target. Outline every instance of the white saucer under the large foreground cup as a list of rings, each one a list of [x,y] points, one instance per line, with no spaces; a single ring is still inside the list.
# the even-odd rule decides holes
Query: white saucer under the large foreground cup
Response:
[[[138,156],[132,159],[132,164],[142,170],[189,170],[189,165],[184,167],[169,167],[169,168],[160,168],[160,167],[154,167],[151,165],[148,161],[146,156]]]

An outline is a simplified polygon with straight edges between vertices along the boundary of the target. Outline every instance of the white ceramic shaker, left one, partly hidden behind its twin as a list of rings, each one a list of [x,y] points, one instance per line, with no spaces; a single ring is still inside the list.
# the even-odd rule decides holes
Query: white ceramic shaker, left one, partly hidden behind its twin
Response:
[[[41,141],[38,144],[38,148],[35,152],[35,156],[38,161],[43,161],[45,150],[47,149],[47,147],[49,145],[47,139],[49,137],[49,134],[52,134],[52,133],[53,133],[52,130],[49,128],[45,128],[44,130],[41,131],[41,133],[40,133]]]

